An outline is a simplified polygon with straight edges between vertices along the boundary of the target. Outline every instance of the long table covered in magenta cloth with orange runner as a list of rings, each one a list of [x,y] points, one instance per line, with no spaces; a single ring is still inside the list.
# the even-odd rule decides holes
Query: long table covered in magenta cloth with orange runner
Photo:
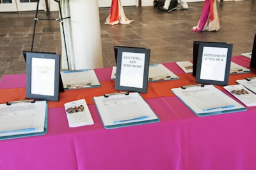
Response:
[[[232,61],[250,66],[246,57]],[[170,91],[195,77],[175,63],[164,66],[179,80],[148,83],[148,93],[141,94],[160,122],[104,129],[92,97],[114,92],[115,82],[111,68],[95,69],[101,87],[66,90],[59,102],[49,101],[47,134],[0,141],[0,169],[255,169],[256,107],[197,117]],[[255,75],[232,74],[229,84]],[[0,103],[24,99],[25,85],[25,74],[3,76]],[[63,104],[76,99],[86,99],[94,125],[68,127]]]

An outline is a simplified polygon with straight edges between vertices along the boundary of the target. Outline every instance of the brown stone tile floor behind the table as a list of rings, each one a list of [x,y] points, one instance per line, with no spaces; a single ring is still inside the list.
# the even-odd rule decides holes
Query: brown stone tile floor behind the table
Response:
[[[100,8],[104,67],[115,66],[114,45],[150,48],[150,63],[192,60],[193,41],[232,43],[232,55],[252,52],[256,33],[253,0],[217,2],[220,31],[192,32],[204,3],[188,3],[188,10],[167,13],[153,6],[124,7],[129,25],[106,25],[109,8]],[[40,11],[38,18],[58,18],[58,12]],[[31,49],[35,11],[0,13],[0,80],[5,74],[26,73],[23,50]],[[60,23],[40,20],[33,50],[61,54]]]

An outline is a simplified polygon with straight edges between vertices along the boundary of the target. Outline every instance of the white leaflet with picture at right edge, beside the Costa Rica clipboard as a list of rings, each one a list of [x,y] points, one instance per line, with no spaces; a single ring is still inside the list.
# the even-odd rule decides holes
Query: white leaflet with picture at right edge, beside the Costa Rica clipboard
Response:
[[[246,89],[243,85],[227,85],[224,89],[246,106],[256,106],[256,95]]]

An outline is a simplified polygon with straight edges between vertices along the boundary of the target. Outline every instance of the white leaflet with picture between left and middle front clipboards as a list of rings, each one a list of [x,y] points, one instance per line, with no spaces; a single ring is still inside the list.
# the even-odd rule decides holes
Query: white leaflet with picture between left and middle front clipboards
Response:
[[[85,99],[65,103],[65,111],[69,127],[93,125],[92,115]]]

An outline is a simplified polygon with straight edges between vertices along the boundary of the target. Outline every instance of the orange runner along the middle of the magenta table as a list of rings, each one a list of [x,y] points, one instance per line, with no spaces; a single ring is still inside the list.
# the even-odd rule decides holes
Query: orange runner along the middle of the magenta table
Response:
[[[247,77],[255,76],[255,73],[246,74],[232,74],[229,77],[228,85],[236,84],[236,80],[241,80]],[[93,104],[94,96],[103,96],[113,92],[120,92],[115,90],[115,81],[101,81],[100,87],[93,87],[88,89],[76,89],[65,90],[60,92],[60,101],[49,101],[49,108],[63,107],[65,103],[69,101],[75,101],[77,99],[86,99],[87,104]],[[148,83],[147,94],[141,94],[143,99],[154,97],[167,97],[174,96],[171,89],[181,87],[182,85],[195,84],[195,76],[192,74],[179,74],[178,80],[170,81],[157,81]],[[222,86],[216,86],[218,89],[223,90]],[[17,89],[0,89],[0,103],[6,103],[6,101],[17,101],[20,99],[26,99],[26,88]]]

